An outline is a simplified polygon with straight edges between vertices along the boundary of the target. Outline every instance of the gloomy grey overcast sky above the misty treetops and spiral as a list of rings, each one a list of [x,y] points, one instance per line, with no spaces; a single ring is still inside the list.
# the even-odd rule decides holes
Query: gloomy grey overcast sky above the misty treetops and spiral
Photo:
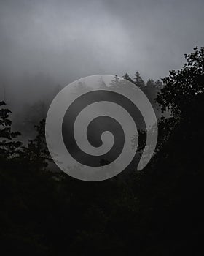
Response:
[[[203,0],[0,0],[1,84],[32,99],[87,75],[162,78],[204,45],[203,10]],[[47,82],[35,85],[39,72]]]

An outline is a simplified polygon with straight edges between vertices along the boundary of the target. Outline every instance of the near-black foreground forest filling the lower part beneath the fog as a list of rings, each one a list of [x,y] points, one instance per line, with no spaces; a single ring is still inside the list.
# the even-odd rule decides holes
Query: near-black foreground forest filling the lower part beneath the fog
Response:
[[[159,138],[144,170],[106,181],[79,181],[53,167],[44,113],[34,116],[34,138],[25,143],[23,121],[13,126],[1,99],[2,255],[201,254],[204,47],[185,54],[184,67],[161,80],[144,83],[139,72],[124,78],[152,102]]]

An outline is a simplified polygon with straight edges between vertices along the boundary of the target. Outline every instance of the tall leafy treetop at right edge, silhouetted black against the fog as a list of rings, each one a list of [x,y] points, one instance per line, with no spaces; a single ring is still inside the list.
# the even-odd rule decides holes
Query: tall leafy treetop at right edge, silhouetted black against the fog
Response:
[[[204,92],[204,47],[195,47],[193,53],[184,56],[187,63],[180,70],[171,70],[169,76],[162,79],[164,86],[156,99],[162,111],[170,111],[177,120],[197,94]]]

